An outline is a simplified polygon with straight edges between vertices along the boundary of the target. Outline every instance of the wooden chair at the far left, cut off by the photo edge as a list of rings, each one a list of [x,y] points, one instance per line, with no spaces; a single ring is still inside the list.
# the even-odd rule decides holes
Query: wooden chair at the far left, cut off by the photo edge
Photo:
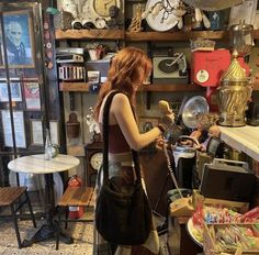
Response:
[[[32,204],[27,195],[27,187],[0,187],[0,207],[9,207],[11,210],[11,215],[4,215],[4,219],[12,218],[13,220],[19,248],[22,248],[23,244],[19,231],[18,219],[24,218],[24,214],[18,214],[16,212],[20,211],[25,203],[27,203],[33,225],[36,228]]]

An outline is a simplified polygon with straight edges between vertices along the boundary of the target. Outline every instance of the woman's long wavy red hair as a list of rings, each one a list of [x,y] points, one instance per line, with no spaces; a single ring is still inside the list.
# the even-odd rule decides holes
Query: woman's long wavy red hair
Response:
[[[125,47],[112,59],[106,81],[101,86],[98,101],[94,108],[94,119],[99,120],[100,108],[104,97],[111,90],[120,90],[127,95],[133,107],[136,103],[136,87],[144,80],[140,79],[144,71],[144,79],[151,71],[151,60],[139,48]]]

